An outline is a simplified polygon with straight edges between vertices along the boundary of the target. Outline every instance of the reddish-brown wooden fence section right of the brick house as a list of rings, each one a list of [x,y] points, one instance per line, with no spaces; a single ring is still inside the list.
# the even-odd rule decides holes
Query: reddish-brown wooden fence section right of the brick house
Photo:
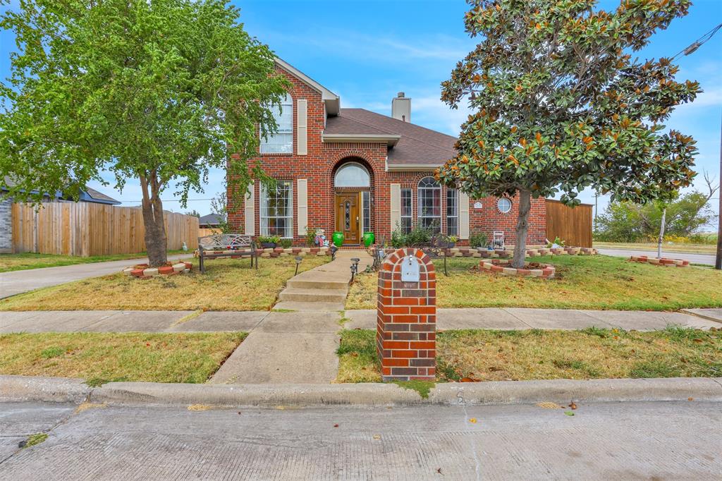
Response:
[[[591,247],[592,205],[568,207],[547,199],[547,239],[560,238],[567,246]]]

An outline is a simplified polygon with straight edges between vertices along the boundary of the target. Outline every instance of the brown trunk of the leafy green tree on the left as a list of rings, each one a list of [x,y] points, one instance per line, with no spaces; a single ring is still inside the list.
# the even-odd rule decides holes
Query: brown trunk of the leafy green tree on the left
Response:
[[[141,176],[140,182],[143,191],[145,250],[148,253],[150,267],[161,267],[168,262],[168,238],[165,236],[160,188],[155,173],[151,173],[149,178]]]

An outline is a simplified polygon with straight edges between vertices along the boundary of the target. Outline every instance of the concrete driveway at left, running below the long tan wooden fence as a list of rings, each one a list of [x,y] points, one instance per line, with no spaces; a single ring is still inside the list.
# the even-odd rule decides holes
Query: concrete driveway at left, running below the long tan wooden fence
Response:
[[[168,256],[169,261],[187,259],[193,254],[175,254]],[[64,284],[87,277],[98,277],[121,272],[125,267],[147,262],[147,257],[123,259],[122,261],[91,262],[73,266],[43,267],[43,269],[25,269],[23,271],[0,272],[0,299],[28,291]]]

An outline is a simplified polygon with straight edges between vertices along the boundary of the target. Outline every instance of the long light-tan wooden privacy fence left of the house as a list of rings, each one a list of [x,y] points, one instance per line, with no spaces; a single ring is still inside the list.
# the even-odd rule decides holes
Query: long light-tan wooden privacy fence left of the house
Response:
[[[165,212],[168,249],[198,247],[198,217]],[[14,252],[103,256],[145,251],[143,212],[88,202],[48,202],[36,211],[12,204]]]

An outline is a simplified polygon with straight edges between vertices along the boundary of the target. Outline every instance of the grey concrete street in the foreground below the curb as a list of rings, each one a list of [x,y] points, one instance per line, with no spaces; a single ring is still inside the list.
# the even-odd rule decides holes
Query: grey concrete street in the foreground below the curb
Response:
[[[695,401],[574,411],[6,403],[0,480],[718,480],[721,428],[722,406]],[[48,440],[17,449],[38,432]]]

